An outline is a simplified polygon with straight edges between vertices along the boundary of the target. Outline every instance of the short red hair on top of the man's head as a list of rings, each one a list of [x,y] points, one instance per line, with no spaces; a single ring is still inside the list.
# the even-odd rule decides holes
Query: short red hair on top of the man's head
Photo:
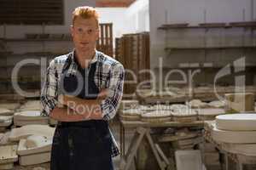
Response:
[[[83,19],[94,18],[96,20],[97,26],[99,25],[99,14],[97,13],[96,9],[93,7],[82,6],[82,7],[75,8],[73,10],[73,17],[72,17],[73,25],[74,25],[74,21],[78,16],[82,17]]]

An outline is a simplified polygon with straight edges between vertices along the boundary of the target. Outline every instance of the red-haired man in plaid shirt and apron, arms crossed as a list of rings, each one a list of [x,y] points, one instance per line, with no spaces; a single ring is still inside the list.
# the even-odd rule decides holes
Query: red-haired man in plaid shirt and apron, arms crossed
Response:
[[[124,67],[96,51],[95,8],[75,8],[71,34],[74,50],[49,63],[41,94],[42,115],[58,121],[50,169],[111,170],[119,150],[108,120],[122,97]]]

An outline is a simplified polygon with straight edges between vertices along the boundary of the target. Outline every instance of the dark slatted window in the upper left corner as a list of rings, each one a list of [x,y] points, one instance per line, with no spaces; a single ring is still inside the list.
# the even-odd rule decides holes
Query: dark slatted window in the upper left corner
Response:
[[[63,0],[0,0],[0,24],[62,25]]]

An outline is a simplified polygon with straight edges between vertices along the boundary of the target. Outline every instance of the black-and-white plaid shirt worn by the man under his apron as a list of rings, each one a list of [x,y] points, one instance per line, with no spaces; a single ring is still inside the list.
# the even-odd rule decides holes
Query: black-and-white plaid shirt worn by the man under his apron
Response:
[[[101,104],[102,115],[104,120],[110,120],[115,116],[122,98],[125,70],[123,65],[117,60],[98,51],[96,51],[96,55],[94,59],[90,61],[90,64],[96,61],[98,61],[96,63],[96,73],[94,77],[96,86],[99,89],[108,88],[108,97],[102,100]],[[43,106],[41,111],[42,116],[49,116],[50,111],[52,111],[58,103],[63,69],[67,70],[67,75],[76,74],[78,65],[74,60],[74,51],[56,57],[49,63],[41,92],[41,104]],[[113,140],[112,156],[118,156],[118,144],[113,138],[112,133],[111,137]]]

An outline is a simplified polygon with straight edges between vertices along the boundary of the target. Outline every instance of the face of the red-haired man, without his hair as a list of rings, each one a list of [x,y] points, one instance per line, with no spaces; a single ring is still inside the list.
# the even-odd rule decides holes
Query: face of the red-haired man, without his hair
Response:
[[[77,17],[71,26],[71,34],[74,46],[79,52],[90,53],[96,48],[99,30],[94,18]]]

